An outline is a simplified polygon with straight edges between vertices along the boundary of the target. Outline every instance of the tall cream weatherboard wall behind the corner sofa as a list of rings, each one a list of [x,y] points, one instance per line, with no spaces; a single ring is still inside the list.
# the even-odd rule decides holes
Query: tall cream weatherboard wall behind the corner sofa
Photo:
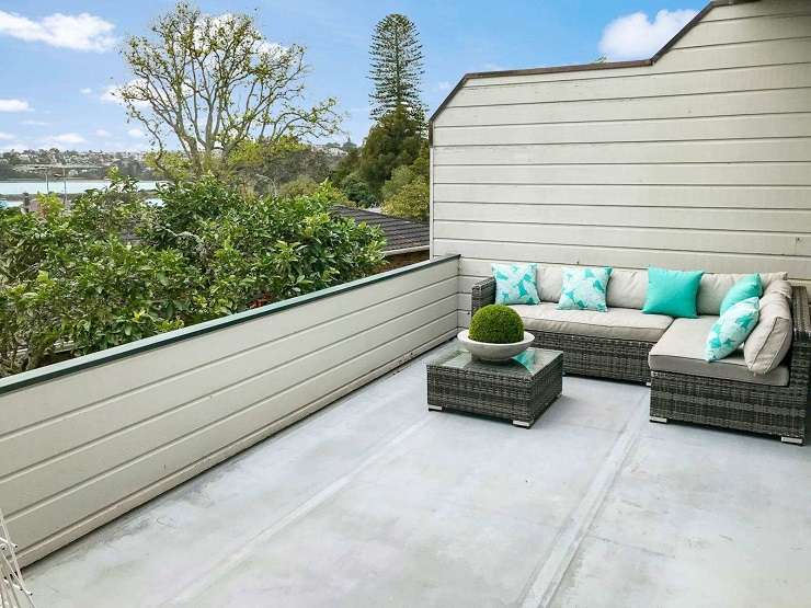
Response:
[[[461,325],[493,261],[811,285],[811,1],[715,7],[649,66],[470,78],[432,152]]]

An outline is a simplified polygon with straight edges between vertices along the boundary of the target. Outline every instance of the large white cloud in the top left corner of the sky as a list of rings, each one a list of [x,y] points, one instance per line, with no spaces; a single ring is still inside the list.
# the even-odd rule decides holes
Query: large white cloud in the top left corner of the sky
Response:
[[[115,25],[89,13],[54,13],[38,20],[0,11],[0,35],[58,48],[103,53],[115,46]]]

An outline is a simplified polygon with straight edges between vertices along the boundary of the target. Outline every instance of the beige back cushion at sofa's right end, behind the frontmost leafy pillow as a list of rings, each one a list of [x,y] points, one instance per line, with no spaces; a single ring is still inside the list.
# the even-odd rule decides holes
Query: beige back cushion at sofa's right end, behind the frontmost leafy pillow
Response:
[[[746,367],[754,374],[768,374],[786,357],[791,346],[791,306],[781,294],[761,298],[761,318],[743,345]]]

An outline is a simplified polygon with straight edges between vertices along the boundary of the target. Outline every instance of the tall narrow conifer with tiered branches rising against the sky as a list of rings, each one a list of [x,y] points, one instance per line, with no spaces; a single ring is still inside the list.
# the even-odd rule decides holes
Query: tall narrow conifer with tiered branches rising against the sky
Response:
[[[374,83],[372,117],[380,119],[406,108],[420,124],[425,106],[420,99],[423,69],[422,45],[414,23],[401,14],[386,15],[372,35],[369,79]]]

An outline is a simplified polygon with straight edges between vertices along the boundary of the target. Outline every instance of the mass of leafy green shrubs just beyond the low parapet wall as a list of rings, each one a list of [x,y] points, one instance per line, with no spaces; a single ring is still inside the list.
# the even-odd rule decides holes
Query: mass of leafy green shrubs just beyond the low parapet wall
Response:
[[[328,182],[310,195],[252,198],[210,176],[147,204],[113,175],[72,209],[0,209],[0,376],[58,351],[87,354],[353,280],[382,261],[377,229],[333,216]]]

